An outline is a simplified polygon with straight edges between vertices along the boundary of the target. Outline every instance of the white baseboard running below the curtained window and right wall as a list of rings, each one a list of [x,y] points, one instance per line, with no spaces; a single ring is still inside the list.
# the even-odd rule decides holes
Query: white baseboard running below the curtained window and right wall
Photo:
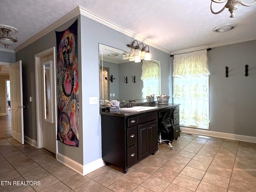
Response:
[[[182,127],[182,126],[180,128],[182,130],[182,133],[200,134],[205,136],[220,137],[225,139],[256,143],[256,137],[252,137],[252,136],[236,135],[236,134],[215,132],[215,131],[209,131],[209,130],[199,130],[199,129]]]

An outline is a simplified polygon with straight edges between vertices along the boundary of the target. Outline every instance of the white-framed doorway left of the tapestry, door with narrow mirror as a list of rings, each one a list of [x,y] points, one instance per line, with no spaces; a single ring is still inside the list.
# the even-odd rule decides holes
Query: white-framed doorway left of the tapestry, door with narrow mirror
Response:
[[[54,154],[56,154],[57,149],[55,52],[55,47],[53,47],[35,55],[37,145],[38,148],[45,148],[46,150],[49,150]],[[46,63],[52,64],[52,100],[50,104],[51,108],[50,105],[48,105],[48,99],[50,97],[49,95],[46,95],[46,82],[48,82],[48,80],[46,80],[46,68],[48,67]],[[47,112],[45,110],[47,110]],[[50,114],[49,110],[51,110],[51,119],[49,119],[49,116],[47,116],[47,114]]]

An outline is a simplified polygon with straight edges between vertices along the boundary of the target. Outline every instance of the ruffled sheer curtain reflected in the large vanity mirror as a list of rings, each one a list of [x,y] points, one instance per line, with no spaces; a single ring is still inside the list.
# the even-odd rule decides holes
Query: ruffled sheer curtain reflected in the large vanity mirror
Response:
[[[142,75],[141,80],[143,81],[142,98],[154,94],[159,94],[159,66],[157,63],[150,61],[142,61]]]

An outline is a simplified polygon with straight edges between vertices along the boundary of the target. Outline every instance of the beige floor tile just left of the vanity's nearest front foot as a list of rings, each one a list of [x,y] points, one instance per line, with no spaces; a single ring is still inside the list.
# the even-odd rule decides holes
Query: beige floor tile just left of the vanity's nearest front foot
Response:
[[[94,181],[98,182],[99,184],[108,187],[112,183],[116,182],[121,177],[118,174],[106,171],[99,175],[98,177],[94,178]]]

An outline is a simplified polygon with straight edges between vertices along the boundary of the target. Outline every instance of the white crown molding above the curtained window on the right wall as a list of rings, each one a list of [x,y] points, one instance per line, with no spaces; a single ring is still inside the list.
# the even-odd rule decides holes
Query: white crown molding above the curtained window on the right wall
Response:
[[[208,49],[208,48],[213,48],[213,47],[231,45],[231,44],[236,44],[236,43],[242,43],[242,42],[252,41],[252,40],[256,40],[256,37],[242,39],[242,40],[236,40],[236,41],[231,41],[231,42],[226,42],[226,43],[210,44],[210,45],[204,45],[204,46],[199,46],[199,47],[194,47],[194,48],[173,51],[172,55],[182,54],[182,53],[187,53],[187,52],[192,52],[192,51],[198,51],[198,50],[203,50],[203,49]]]

